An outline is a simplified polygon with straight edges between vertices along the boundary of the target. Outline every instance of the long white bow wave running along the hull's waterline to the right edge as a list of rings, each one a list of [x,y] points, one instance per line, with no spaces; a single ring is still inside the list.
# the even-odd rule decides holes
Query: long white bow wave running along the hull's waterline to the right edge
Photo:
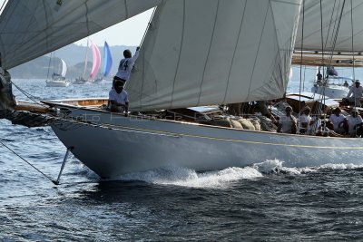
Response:
[[[142,181],[158,185],[174,185],[190,188],[226,189],[234,181],[260,179],[271,174],[299,176],[321,170],[361,169],[363,165],[325,164],[319,167],[284,167],[282,160],[265,160],[249,167],[231,167],[215,171],[196,172],[182,167],[164,167],[144,172],[134,172],[116,178],[121,181]],[[93,177],[94,178],[94,177]],[[114,180],[114,179],[113,179]]]

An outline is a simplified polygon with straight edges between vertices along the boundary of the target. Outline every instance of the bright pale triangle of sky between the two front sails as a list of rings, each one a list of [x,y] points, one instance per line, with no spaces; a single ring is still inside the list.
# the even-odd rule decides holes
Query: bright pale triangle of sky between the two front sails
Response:
[[[103,31],[89,36],[89,40],[98,46],[103,46],[104,41],[110,46],[126,45],[138,46],[142,42],[142,36],[145,33],[147,24],[152,16],[152,9],[143,12],[140,15],[133,16],[120,24],[115,24]],[[87,45],[87,38],[75,42],[78,45]]]

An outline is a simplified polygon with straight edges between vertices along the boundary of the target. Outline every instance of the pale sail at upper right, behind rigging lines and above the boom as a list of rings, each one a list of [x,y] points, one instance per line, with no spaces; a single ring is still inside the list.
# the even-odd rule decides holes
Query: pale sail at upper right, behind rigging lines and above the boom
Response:
[[[302,44],[303,51],[363,51],[363,0],[322,0],[321,8],[320,1],[305,0],[304,5],[304,13],[301,7],[295,50],[301,50]]]

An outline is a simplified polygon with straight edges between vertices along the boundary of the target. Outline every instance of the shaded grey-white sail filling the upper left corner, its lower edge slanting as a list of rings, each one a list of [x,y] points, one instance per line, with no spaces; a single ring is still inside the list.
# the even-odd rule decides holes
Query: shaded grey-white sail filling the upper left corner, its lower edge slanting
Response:
[[[0,16],[5,69],[138,15],[159,0],[12,0]],[[58,4],[59,3],[59,4]],[[127,34],[125,34],[127,35]]]

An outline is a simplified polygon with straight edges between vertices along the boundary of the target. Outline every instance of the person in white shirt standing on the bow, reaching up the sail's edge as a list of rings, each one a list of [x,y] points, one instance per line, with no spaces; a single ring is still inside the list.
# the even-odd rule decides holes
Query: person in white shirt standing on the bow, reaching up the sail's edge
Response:
[[[136,59],[139,57],[140,47],[136,48],[136,52],[133,54],[130,50],[123,51],[123,59],[120,61],[118,71],[116,75],[113,77],[113,87],[114,82],[117,80],[123,81],[126,83],[130,79],[130,74],[132,71],[133,64],[135,63]]]

